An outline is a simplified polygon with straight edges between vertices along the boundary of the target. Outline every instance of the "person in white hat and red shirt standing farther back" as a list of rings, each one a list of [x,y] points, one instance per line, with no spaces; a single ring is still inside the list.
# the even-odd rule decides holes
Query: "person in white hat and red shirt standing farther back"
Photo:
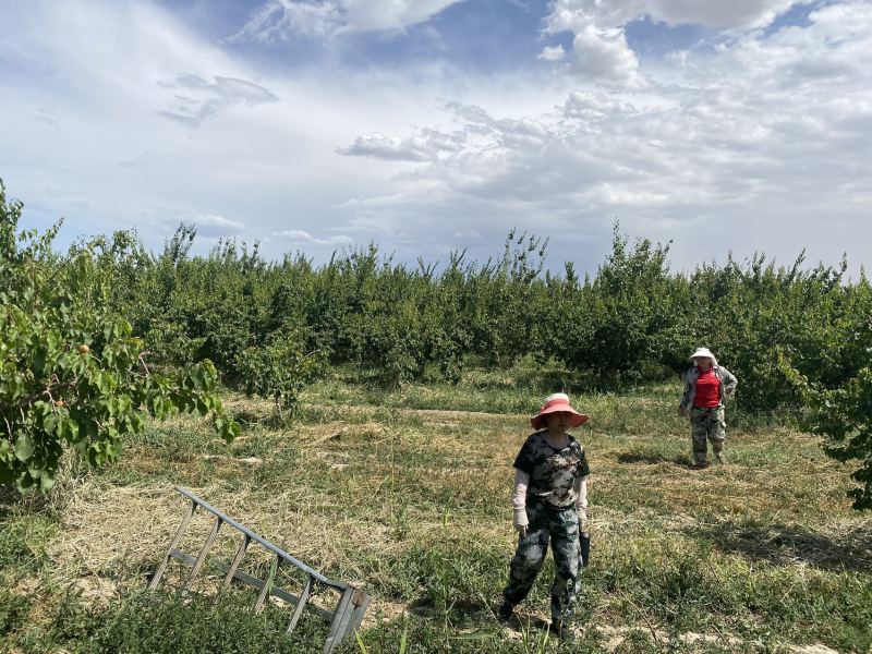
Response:
[[[712,444],[718,463],[726,462],[724,441],[727,423],[724,421],[724,407],[738,382],[732,373],[717,364],[715,355],[707,348],[697,348],[690,360],[693,367],[685,375],[685,391],[678,412],[682,416],[690,414],[693,462],[697,468],[706,468],[707,443]]]

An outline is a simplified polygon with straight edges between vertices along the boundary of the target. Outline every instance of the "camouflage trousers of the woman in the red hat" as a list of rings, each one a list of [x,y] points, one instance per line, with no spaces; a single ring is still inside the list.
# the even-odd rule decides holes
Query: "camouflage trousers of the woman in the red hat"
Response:
[[[528,498],[526,518],[530,521],[526,535],[518,540],[509,585],[502,591],[502,596],[512,605],[526,597],[545,562],[550,541],[554,554],[552,620],[568,621],[574,610],[579,579],[579,517],[576,507],[554,509],[538,499]]]

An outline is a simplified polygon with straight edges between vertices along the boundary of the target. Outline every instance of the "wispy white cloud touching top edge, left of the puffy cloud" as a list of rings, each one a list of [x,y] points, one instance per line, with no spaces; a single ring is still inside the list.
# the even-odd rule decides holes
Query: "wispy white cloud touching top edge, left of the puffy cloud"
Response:
[[[268,0],[233,40],[274,41],[295,36],[402,31],[461,0]]]

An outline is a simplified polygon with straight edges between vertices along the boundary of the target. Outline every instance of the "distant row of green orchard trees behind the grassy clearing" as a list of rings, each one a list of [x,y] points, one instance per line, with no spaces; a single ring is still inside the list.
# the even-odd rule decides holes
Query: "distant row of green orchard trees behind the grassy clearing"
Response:
[[[299,254],[267,262],[234,242],[194,257],[194,238],[182,227],[152,254],[120,232],[98,240],[95,265],[112,276],[113,306],[156,361],[193,352],[229,384],[261,389],[269,370],[303,384],[326,363],[388,385],[425,373],[458,380],[471,356],[487,366],[554,360],[631,384],[685,371],[704,344],[741,379],[738,401],[771,411],[801,399],[779,355],[832,387],[855,376],[872,346],[872,288],[864,276],[847,279],[845,262],[808,267],[800,255],[779,267],[756,255],[673,272],[668,245],[631,244],[617,226],[611,253],[584,278],[572,264],[546,271],[546,243],[513,232],[497,259],[459,252],[441,267],[395,263],[375,245],[320,266]],[[290,378],[279,386],[293,395]]]

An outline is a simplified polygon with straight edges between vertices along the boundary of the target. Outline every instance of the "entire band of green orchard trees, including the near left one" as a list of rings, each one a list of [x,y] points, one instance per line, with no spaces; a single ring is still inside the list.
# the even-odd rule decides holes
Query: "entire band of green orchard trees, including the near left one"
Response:
[[[214,395],[218,374],[293,411],[330,364],[397,385],[433,374],[457,382],[471,358],[505,367],[532,356],[621,385],[680,373],[704,344],[740,378],[737,399],[751,411],[804,404],[823,416],[834,405],[832,397],[815,403],[823,389],[865,388],[872,288],[863,275],[847,279],[845,262],[808,267],[800,255],[784,267],[755,255],[674,272],[668,245],[630,243],[617,225],[610,254],[584,278],[571,263],[547,271],[547,242],[516,232],[498,258],[457,252],[443,266],[395,263],[376,245],[318,266],[301,254],[269,262],[232,241],[192,256],[191,226],[160,253],[126,231],[58,253],[57,230],[17,232],[21,205],[2,193],[0,184],[0,413],[9,427],[0,481],[50,485],[40,471],[57,460],[51,439],[17,445],[16,412],[94,462],[116,456],[143,411],[211,412],[232,436],[238,427]],[[107,389],[113,404],[105,405]],[[86,399],[102,413],[75,413]],[[21,409],[31,400],[28,416]],[[844,422],[843,444],[861,428]]]

